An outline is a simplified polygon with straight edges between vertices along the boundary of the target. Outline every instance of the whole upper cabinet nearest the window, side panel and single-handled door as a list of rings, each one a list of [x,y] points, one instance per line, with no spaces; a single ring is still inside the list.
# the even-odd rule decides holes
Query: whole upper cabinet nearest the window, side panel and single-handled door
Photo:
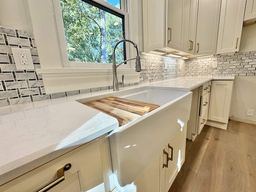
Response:
[[[142,0],[144,51],[183,51],[184,0]]]

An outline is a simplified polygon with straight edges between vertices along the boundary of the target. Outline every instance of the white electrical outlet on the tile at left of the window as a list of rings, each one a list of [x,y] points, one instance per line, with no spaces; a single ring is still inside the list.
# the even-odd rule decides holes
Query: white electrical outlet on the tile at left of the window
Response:
[[[17,70],[34,70],[34,64],[29,49],[13,48],[12,54]]]

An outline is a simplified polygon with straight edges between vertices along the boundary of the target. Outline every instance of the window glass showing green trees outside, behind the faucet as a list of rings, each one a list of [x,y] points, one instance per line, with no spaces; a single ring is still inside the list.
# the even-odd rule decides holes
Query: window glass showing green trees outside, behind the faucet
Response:
[[[120,9],[120,0],[108,3]],[[69,62],[112,63],[114,45],[125,38],[124,15],[91,0],[60,0]],[[116,61],[125,60],[123,44]]]

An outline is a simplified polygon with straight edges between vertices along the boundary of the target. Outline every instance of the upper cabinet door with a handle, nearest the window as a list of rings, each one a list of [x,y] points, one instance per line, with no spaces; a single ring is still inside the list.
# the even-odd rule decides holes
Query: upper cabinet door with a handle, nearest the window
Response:
[[[169,48],[183,50],[183,0],[166,1],[166,45]]]

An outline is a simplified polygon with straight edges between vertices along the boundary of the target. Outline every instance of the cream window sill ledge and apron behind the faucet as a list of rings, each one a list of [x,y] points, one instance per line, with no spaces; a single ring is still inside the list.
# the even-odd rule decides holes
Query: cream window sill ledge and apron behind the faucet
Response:
[[[113,83],[112,69],[88,68],[62,68],[62,69],[36,69],[42,74],[46,94],[81,90],[87,88],[111,86]],[[117,77],[125,83],[140,81],[140,73],[134,69],[117,69]]]

